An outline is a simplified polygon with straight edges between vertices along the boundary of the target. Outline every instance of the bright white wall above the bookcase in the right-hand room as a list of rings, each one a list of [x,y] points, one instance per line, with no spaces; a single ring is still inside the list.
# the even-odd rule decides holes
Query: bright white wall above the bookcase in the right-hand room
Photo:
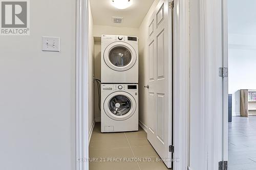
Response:
[[[240,115],[240,89],[256,89],[256,2],[228,1],[228,67],[232,115]],[[239,24],[238,24],[239,23]]]

